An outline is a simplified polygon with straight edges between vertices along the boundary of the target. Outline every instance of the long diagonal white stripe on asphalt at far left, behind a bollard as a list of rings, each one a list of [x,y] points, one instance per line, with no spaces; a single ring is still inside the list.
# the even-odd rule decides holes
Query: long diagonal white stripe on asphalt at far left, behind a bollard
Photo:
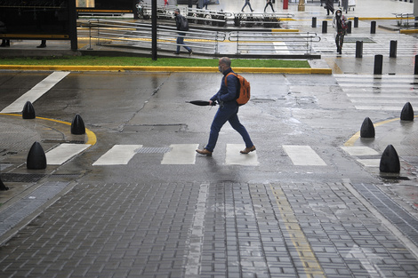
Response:
[[[0,113],[15,113],[21,112],[27,101],[34,103],[36,99],[39,99],[44,95],[46,91],[51,90],[53,86],[59,83],[69,72],[56,71],[46,77],[40,83],[37,83],[35,87],[24,93],[19,99],[16,99],[10,106],[5,107]]]

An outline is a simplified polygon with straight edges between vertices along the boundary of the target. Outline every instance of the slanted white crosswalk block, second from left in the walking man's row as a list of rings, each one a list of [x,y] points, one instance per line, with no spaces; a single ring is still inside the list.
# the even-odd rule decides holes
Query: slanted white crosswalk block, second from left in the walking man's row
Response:
[[[136,150],[140,147],[142,145],[115,145],[92,165],[125,165],[136,155]]]

